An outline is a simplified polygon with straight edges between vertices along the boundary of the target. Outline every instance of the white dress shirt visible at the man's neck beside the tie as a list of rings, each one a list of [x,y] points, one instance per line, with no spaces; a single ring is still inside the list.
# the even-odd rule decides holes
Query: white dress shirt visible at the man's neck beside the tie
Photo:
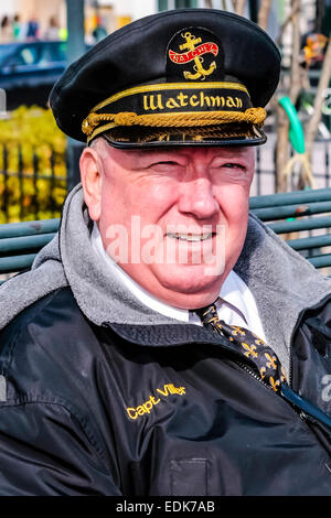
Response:
[[[111,274],[117,278],[142,304],[164,316],[190,324],[202,325],[200,317],[193,311],[174,307],[158,300],[134,281],[104,249],[98,227],[94,224],[90,235],[93,248],[107,263]],[[263,324],[258,315],[255,299],[247,284],[232,270],[225,279],[216,302],[217,314],[229,325],[247,327],[261,339],[266,341]]]

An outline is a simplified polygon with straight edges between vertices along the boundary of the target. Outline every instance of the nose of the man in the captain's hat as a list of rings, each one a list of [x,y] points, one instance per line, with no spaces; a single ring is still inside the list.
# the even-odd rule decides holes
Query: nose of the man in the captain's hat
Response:
[[[207,179],[185,182],[180,187],[178,208],[183,214],[191,214],[197,219],[211,219],[220,212],[213,194],[213,186]]]

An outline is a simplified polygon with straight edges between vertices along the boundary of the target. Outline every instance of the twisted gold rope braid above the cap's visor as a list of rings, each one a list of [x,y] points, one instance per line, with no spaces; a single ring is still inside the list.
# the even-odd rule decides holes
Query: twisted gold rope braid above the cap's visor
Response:
[[[152,114],[137,115],[131,111],[119,114],[89,114],[83,120],[82,131],[88,137],[94,132],[99,122],[111,121],[116,126],[150,126],[162,127],[193,127],[215,126],[226,122],[250,122],[261,126],[267,112],[264,108],[248,108],[246,111],[199,111],[185,114]]]

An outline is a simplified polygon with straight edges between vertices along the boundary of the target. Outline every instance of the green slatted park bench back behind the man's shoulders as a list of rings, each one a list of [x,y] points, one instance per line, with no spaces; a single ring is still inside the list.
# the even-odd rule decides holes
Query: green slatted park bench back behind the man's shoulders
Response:
[[[253,196],[249,205],[316,268],[331,267],[331,188]],[[4,274],[29,269],[57,228],[58,219],[0,225],[0,282]]]

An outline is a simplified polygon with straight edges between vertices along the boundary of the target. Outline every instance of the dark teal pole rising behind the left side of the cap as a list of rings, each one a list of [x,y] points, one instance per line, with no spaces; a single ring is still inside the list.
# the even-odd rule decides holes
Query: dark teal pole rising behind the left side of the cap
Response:
[[[84,0],[66,0],[67,60],[77,60],[85,47]],[[79,181],[79,157],[84,145],[82,142],[67,138],[67,191]]]

